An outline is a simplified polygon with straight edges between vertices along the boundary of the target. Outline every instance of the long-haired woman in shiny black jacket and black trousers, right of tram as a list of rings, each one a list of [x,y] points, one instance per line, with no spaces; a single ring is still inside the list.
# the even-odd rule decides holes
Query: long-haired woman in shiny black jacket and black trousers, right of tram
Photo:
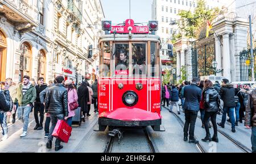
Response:
[[[217,90],[213,88],[213,83],[210,80],[204,81],[204,89],[203,89],[203,95],[204,95],[204,127],[206,136],[202,141],[214,141],[218,143],[218,135],[217,135],[217,123],[216,123],[216,116],[218,113],[218,99],[221,98],[218,94]],[[213,137],[210,137],[210,131],[209,131],[209,118],[213,124]]]

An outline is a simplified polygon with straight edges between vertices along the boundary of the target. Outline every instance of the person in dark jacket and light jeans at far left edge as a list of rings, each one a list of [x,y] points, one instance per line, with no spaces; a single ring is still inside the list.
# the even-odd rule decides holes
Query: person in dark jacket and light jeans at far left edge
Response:
[[[0,124],[2,127],[2,139],[6,140],[8,137],[7,130],[7,116],[11,115],[11,109],[13,108],[13,101],[11,100],[9,87],[11,83],[9,81],[5,81],[3,90],[0,89]]]

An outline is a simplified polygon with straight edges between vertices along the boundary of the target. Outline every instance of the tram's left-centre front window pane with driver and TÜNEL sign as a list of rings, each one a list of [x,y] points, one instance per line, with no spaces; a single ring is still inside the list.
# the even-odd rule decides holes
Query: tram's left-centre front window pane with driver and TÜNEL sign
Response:
[[[115,44],[115,75],[129,75],[129,44]]]

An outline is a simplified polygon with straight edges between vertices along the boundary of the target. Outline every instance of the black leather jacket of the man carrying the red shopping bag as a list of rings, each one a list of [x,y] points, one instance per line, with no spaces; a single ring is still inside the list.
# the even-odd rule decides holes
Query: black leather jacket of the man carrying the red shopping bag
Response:
[[[63,84],[58,83],[47,90],[46,112],[68,116],[68,90]]]

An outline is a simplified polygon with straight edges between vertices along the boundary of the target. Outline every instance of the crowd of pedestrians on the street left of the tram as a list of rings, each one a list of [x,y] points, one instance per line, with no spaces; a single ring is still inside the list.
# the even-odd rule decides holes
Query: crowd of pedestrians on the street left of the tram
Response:
[[[76,86],[72,79],[64,80],[63,76],[57,76],[49,85],[44,83],[44,78],[39,77],[38,84],[30,79],[29,76],[23,76],[20,84],[15,84],[11,78],[1,82],[3,88],[0,89],[0,123],[2,127],[2,139],[6,140],[7,118],[15,123],[16,113],[18,119],[23,123],[23,132],[20,137],[25,137],[28,132],[28,119],[34,108],[34,118],[36,126],[34,130],[43,130],[48,138],[47,148],[52,148],[52,132],[56,126],[57,120],[67,120],[69,126],[72,126],[72,118],[75,116],[75,110],[81,110],[81,120],[90,116],[90,105],[94,104],[94,112],[98,113],[97,101],[97,79],[92,86],[88,81],[82,81]],[[77,108],[74,108],[77,103]],[[79,109],[78,109],[79,108]],[[44,116],[46,121],[44,122]],[[40,116],[40,119],[39,119]],[[51,127],[50,127],[51,123]],[[63,148],[61,141],[56,139],[55,150]]]

